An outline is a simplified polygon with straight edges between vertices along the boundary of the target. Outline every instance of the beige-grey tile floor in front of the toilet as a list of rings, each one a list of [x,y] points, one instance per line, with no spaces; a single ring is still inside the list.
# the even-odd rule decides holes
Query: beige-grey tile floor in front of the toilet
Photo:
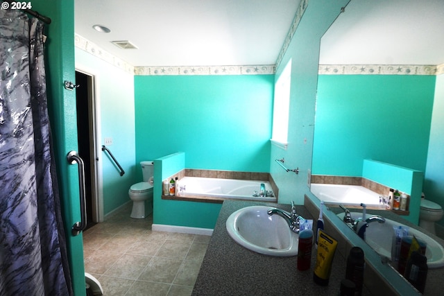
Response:
[[[210,236],[154,232],[126,204],[83,234],[85,272],[105,296],[191,295]]]

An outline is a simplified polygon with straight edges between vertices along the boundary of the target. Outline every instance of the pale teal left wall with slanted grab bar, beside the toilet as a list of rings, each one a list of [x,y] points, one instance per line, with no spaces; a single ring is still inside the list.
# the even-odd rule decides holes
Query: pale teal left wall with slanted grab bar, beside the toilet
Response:
[[[104,138],[112,138],[112,145],[107,146],[125,171],[120,176],[108,154],[99,151],[102,164],[103,214],[130,201],[128,189],[132,184],[142,181],[136,171],[142,168],[135,161],[135,109],[134,75],[127,73],[96,56],[76,48],[76,67],[91,73],[96,78],[96,110],[101,131],[101,143]]]

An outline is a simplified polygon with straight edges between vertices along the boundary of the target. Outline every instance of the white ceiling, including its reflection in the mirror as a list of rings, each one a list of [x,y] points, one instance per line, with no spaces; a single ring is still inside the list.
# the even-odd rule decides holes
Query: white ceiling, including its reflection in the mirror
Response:
[[[75,0],[75,32],[133,66],[275,64],[299,3]],[[320,63],[443,64],[443,49],[443,0],[351,0],[322,39]]]

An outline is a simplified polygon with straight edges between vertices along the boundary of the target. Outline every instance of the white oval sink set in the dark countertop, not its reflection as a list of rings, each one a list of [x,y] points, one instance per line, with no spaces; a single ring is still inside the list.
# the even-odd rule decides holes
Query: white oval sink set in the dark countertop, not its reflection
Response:
[[[299,235],[278,215],[269,216],[272,207],[253,206],[235,211],[225,223],[228,234],[248,250],[271,256],[298,254]]]

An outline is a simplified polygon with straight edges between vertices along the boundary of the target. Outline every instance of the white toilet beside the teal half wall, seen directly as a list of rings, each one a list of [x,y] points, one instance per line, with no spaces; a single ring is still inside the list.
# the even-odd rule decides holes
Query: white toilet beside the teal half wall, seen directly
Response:
[[[128,191],[133,200],[131,218],[143,219],[153,212],[153,175],[154,162],[140,162],[144,182],[133,184]],[[145,204],[146,201],[146,204]]]

